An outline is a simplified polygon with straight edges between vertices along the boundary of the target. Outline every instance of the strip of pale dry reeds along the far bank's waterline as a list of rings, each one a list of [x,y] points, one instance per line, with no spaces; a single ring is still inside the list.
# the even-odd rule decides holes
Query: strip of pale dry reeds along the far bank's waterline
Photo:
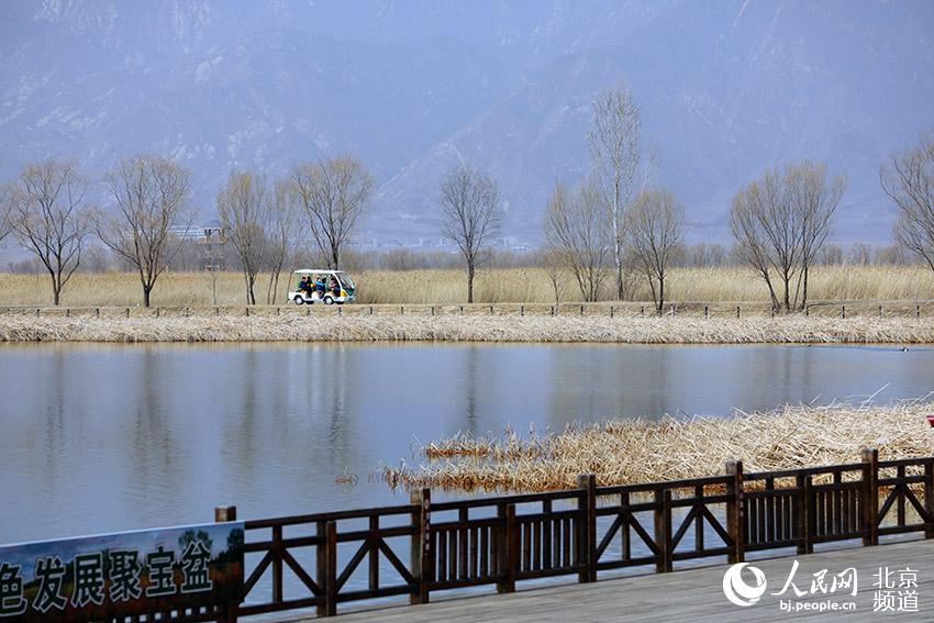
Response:
[[[0,315],[0,342],[547,342],[621,344],[931,344],[934,320],[575,316]]]

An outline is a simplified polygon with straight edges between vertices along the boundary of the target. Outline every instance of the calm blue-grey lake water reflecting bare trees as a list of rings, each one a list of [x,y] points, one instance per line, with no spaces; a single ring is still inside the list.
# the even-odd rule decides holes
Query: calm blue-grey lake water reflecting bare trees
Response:
[[[887,386],[887,387],[886,387]],[[934,389],[934,349],[0,347],[0,543],[398,503],[381,465],[457,431]],[[356,475],[356,485],[335,477]]]

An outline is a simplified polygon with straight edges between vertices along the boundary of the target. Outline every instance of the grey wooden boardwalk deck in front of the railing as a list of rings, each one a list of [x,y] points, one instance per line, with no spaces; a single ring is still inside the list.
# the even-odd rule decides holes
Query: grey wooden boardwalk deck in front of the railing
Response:
[[[857,570],[857,594],[837,590],[834,593],[816,594],[793,602],[836,603],[855,602],[855,612],[782,611],[779,600],[791,596],[791,589],[781,597],[793,560],[800,563],[794,575],[794,585],[810,591],[813,574],[827,569],[830,578],[846,568]],[[467,621],[691,621],[692,623],[725,621],[759,622],[836,621],[845,616],[847,622],[859,621],[932,621],[934,620],[934,539],[909,541],[881,544],[875,547],[847,547],[818,552],[803,556],[786,556],[750,560],[761,569],[767,579],[767,591],[761,600],[748,608],[730,603],[723,594],[723,574],[727,564],[676,570],[669,574],[629,576],[602,579],[594,583],[551,583],[545,587],[526,588],[511,594],[460,596],[449,599],[433,597],[424,605],[387,607],[378,610],[347,612],[340,615],[346,623],[380,622],[436,622],[457,623]],[[918,612],[874,612],[876,591],[874,587],[879,567],[888,567],[897,581],[898,571],[916,570]],[[746,576],[744,575],[744,578]],[[749,576],[750,577],[750,576]],[[902,589],[903,590],[903,589]],[[898,596],[899,589],[894,589]],[[896,604],[897,605],[897,604]],[[305,615],[307,616],[307,615]],[[312,621],[312,618],[291,616],[281,621]]]

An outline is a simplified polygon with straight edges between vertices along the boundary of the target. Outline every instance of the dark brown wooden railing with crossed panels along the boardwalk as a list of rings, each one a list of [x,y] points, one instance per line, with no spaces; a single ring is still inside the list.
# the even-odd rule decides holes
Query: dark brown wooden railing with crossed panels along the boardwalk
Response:
[[[235,512],[235,511],[234,511]],[[233,519],[224,514],[222,519]],[[648,566],[658,572],[707,557],[742,561],[746,553],[910,532],[934,536],[934,457],[863,460],[782,471],[578,488],[358,511],[248,521],[241,616],[433,591],[496,586]],[[396,547],[392,543],[396,542]],[[254,557],[251,563],[251,557]],[[285,594],[286,571],[296,580]]]

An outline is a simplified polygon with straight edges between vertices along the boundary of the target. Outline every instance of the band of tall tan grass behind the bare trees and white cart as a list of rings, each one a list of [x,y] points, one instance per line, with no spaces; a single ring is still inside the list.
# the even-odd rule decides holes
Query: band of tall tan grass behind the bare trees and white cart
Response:
[[[366,304],[460,304],[467,299],[463,270],[368,270],[353,272],[357,301]],[[291,275],[282,276],[275,303],[285,303]],[[561,278],[563,302],[580,300],[570,276]],[[266,276],[260,276],[257,298],[266,300]],[[245,302],[243,276],[227,271],[218,276],[220,305]],[[818,266],[809,277],[810,298],[818,300],[922,300],[934,292],[934,271],[923,266]],[[665,289],[677,301],[767,302],[761,279],[742,267],[672,268]],[[604,298],[609,300],[608,290]],[[0,272],[0,307],[51,304],[46,275]],[[480,303],[554,303],[552,283],[541,268],[481,269],[475,281]],[[648,287],[638,281],[632,297],[649,301]],[[63,304],[71,307],[126,307],[141,301],[140,279],[133,272],[78,272],[63,292]],[[154,305],[209,305],[211,280],[204,272],[166,272],[153,291]]]

